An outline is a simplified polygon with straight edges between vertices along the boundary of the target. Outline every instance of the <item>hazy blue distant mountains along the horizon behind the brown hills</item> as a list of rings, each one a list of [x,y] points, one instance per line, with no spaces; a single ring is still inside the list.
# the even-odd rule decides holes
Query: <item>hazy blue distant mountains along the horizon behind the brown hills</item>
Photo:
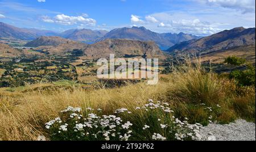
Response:
[[[112,31],[92,29],[69,29],[62,33],[44,31],[39,29],[18,28],[0,22],[0,37],[20,40],[35,40],[40,36],[60,36],[65,39],[93,44],[106,39],[129,39],[141,41],[155,41],[160,49],[168,49],[175,44],[192,39],[199,39],[195,35],[185,33],[156,33],[144,27],[116,28]]]

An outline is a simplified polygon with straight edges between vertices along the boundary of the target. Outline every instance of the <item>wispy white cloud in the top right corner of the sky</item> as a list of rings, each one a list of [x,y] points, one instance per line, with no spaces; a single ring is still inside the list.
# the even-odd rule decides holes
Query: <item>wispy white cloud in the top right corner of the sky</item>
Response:
[[[255,0],[199,0],[208,5],[216,5],[229,9],[240,10],[242,13],[255,12]]]

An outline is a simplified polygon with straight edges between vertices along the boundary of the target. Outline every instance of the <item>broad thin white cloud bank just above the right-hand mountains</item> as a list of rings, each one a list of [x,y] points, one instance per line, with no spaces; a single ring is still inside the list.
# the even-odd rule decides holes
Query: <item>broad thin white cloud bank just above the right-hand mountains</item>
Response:
[[[235,9],[227,11],[220,7],[214,10],[209,9],[209,6],[201,8],[149,14],[159,23],[143,24],[143,26],[155,32],[184,32],[200,36],[212,35],[234,27],[255,27],[255,14],[242,14]]]

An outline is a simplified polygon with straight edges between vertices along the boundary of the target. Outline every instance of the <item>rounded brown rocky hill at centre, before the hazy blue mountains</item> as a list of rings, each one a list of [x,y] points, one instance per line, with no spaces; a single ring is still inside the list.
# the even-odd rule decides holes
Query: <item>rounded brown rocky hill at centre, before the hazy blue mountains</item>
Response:
[[[115,54],[116,57],[165,58],[162,50],[152,41],[107,39],[88,45],[84,52],[93,58],[109,58],[109,54]]]

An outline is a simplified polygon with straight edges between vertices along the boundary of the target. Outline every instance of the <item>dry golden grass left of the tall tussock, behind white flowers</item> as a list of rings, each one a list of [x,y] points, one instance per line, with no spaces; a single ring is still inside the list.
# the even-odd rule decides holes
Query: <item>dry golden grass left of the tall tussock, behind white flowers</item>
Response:
[[[149,98],[162,96],[164,86],[144,83],[114,89],[84,91],[79,88],[45,95],[30,92],[19,96],[0,96],[0,140],[36,140],[44,132],[44,123],[65,107],[102,108],[112,113],[117,108],[136,107]],[[17,103],[17,104],[16,104]]]

